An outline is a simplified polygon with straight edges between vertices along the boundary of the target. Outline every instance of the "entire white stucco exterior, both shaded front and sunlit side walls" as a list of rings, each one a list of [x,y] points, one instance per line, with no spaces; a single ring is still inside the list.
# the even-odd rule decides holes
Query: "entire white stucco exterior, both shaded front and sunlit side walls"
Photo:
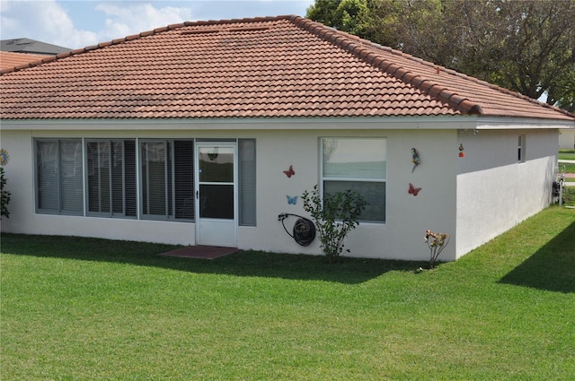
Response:
[[[498,121],[499,123],[499,121]],[[34,206],[34,138],[253,138],[256,139],[257,226],[238,227],[238,247],[282,253],[321,254],[316,238],[300,247],[278,221],[282,212],[306,216],[301,194],[320,178],[322,137],[385,137],[386,221],[361,223],[346,241],[351,256],[427,260],[425,230],[451,236],[443,260],[454,260],[535,214],[551,201],[557,129],[478,123],[473,118],[429,120],[265,121],[241,123],[137,123],[3,125],[4,168],[12,192],[10,219],[2,230],[195,244],[192,222],[38,214]],[[478,134],[474,134],[477,129]],[[525,162],[517,162],[517,136],[526,138]],[[464,145],[465,157],[457,147]],[[420,166],[411,172],[411,147]],[[283,170],[292,165],[296,175]],[[417,196],[409,184],[420,187]],[[286,195],[298,196],[296,205]],[[286,221],[292,229],[295,218]]]

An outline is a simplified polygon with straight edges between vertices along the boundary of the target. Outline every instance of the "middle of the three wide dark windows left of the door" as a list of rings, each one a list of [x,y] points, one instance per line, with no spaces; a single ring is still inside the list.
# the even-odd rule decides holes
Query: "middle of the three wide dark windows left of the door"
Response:
[[[136,142],[86,143],[89,215],[136,217]]]

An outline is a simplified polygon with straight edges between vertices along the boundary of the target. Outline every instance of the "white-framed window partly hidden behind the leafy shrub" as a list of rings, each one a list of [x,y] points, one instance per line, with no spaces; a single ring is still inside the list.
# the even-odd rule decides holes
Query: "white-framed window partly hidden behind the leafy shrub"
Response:
[[[387,141],[384,138],[323,138],[323,195],[352,189],[366,201],[360,221],[385,222]]]

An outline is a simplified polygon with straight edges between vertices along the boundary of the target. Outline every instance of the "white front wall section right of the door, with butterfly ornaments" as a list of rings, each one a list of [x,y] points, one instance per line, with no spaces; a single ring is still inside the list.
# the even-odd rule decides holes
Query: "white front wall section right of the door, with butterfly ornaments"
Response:
[[[310,247],[299,247],[277,221],[281,212],[305,215],[301,201],[288,205],[286,195],[301,195],[317,183],[320,137],[385,136],[388,152],[386,222],[361,223],[358,229],[352,230],[346,241],[348,255],[427,259],[429,253],[423,242],[426,229],[455,234],[455,164],[450,160],[455,134],[447,130],[258,134],[258,229],[242,228],[240,246],[287,253],[320,253],[317,239]],[[413,173],[411,147],[420,152],[421,159],[420,167]],[[282,173],[289,165],[296,171],[290,179]],[[419,195],[408,193],[409,183],[422,188]],[[288,229],[294,221],[287,221]],[[446,259],[454,259],[455,246],[448,247],[444,255]]]

